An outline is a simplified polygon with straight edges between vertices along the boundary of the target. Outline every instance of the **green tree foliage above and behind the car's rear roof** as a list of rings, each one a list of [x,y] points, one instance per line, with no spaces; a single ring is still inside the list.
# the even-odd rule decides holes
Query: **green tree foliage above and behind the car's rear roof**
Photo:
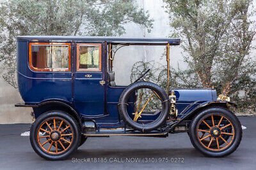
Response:
[[[153,22],[136,3],[122,0],[6,0],[0,9],[1,71],[15,88],[17,36],[116,36],[125,33],[127,22],[148,31]]]

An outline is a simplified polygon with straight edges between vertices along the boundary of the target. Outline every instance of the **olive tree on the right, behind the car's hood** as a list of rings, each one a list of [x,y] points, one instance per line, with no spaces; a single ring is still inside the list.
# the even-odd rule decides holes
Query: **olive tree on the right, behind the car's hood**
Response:
[[[178,86],[214,86],[219,94],[231,96],[239,106],[253,108],[256,99],[256,63],[255,56],[250,55],[256,33],[253,1],[163,1],[170,14],[170,25],[175,29],[172,36],[184,39],[184,60],[189,66],[186,71],[178,71],[182,78],[190,79],[189,83],[183,81],[185,84]],[[176,73],[174,76],[177,78]]]

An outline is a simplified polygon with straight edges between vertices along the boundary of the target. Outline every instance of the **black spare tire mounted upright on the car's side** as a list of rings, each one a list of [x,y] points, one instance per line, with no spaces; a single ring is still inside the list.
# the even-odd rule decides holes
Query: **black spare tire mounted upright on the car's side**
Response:
[[[159,113],[159,117],[155,121],[148,124],[140,124],[138,122],[134,122],[131,117],[129,117],[129,113],[127,112],[127,105],[125,103],[127,103],[129,96],[138,89],[154,90],[156,94],[158,94],[158,96],[161,98],[161,102],[163,104],[163,110],[161,111],[161,113]],[[133,129],[141,132],[149,132],[156,130],[158,127],[161,127],[161,125],[166,122],[170,113],[170,103],[164,89],[148,81],[138,81],[129,85],[122,92],[118,102],[118,113],[122,117],[122,120],[124,120],[125,124],[129,125]]]

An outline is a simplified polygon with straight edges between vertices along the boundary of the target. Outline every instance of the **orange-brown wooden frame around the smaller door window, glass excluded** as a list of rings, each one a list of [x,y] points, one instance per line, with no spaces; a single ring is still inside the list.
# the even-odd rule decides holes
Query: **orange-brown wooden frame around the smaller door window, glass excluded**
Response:
[[[99,69],[80,69],[79,64],[80,64],[80,53],[79,53],[79,47],[80,46],[99,46]],[[101,68],[101,58],[102,58],[102,44],[101,43],[77,43],[76,44],[76,71],[79,72],[87,72],[87,71],[92,71],[92,72],[100,72],[102,71]]]

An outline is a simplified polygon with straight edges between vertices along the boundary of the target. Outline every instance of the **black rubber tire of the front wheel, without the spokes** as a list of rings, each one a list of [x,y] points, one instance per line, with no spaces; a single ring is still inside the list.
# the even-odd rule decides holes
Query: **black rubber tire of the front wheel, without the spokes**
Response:
[[[207,148],[204,146],[205,145],[204,143],[200,142],[200,140],[202,140],[202,138],[200,139],[200,137],[198,136],[198,127],[203,120],[211,117],[211,115],[216,115],[217,117],[219,117],[219,116],[224,117],[223,119],[227,119],[227,122],[229,121],[229,123],[232,124],[230,126],[232,126],[232,131],[234,131],[234,134],[233,134],[234,138],[232,137],[233,139],[230,139],[230,142],[228,143],[228,145],[223,148],[220,147],[221,145],[223,145],[223,143],[219,143],[220,148],[217,148],[214,143],[212,143],[212,145],[210,144],[212,148]],[[216,125],[216,124],[215,124],[215,126],[218,127],[218,125]],[[212,125],[212,128],[213,127],[214,126]],[[216,127],[214,127],[214,128],[216,128]],[[220,130],[220,134],[221,134],[221,131],[222,130]],[[221,107],[211,107],[211,108],[207,108],[203,111],[200,111],[200,113],[198,113],[198,115],[195,116],[195,118],[191,122],[191,125],[189,126],[189,138],[191,140],[192,145],[197,150],[202,152],[204,155],[207,155],[209,157],[225,157],[225,156],[229,155],[230,153],[234,152],[241,142],[242,135],[243,135],[242,133],[243,132],[242,132],[242,128],[241,128],[241,123],[239,122],[236,115],[234,115],[234,113],[232,113],[230,110],[227,110],[227,109],[221,108]],[[211,135],[211,133],[209,133],[209,135]],[[214,139],[214,137],[212,137],[212,136],[210,136],[210,137],[212,139]],[[225,137],[225,136],[223,136],[223,137]],[[220,139],[221,138],[218,138],[218,141],[220,141]],[[216,140],[216,138],[215,138],[215,140]]]

